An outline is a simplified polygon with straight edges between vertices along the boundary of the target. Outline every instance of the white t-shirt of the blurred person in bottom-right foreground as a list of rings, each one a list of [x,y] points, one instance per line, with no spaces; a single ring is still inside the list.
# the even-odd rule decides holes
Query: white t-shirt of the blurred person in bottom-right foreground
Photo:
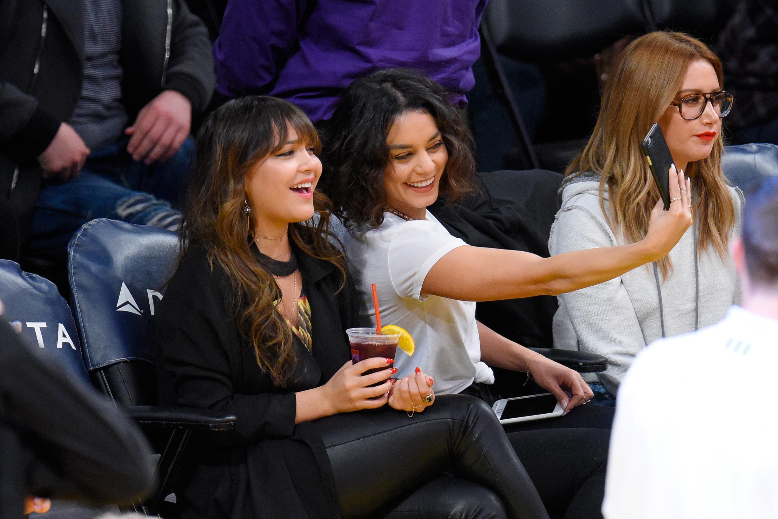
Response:
[[[606,519],[778,518],[778,320],[733,306],[648,345],[619,387]]]

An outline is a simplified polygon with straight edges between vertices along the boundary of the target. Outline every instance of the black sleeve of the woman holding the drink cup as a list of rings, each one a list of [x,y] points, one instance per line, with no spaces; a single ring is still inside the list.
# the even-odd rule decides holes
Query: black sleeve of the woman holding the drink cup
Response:
[[[202,247],[187,253],[160,303],[156,323],[162,351],[160,376],[170,379],[171,403],[235,415],[235,430],[215,437],[220,445],[291,437],[294,392],[241,395],[236,391],[232,366],[251,346],[240,340],[228,308],[230,281],[216,261],[211,270],[206,254]],[[160,386],[165,387],[166,381],[160,380]]]

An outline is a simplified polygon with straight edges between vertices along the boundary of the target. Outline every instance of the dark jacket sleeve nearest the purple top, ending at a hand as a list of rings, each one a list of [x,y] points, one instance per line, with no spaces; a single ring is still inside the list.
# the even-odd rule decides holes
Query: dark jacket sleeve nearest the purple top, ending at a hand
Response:
[[[187,96],[192,110],[208,107],[216,86],[211,40],[202,20],[192,14],[183,0],[173,2],[173,32],[170,35],[164,89]]]

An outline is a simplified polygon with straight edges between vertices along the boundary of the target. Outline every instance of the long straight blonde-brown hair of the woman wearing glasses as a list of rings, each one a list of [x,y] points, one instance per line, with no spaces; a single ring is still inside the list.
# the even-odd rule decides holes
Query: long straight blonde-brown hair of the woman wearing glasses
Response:
[[[601,175],[602,211],[614,233],[629,242],[646,236],[651,209],[660,196],[640,141],[675,99],[689,64],[698,60],[713,65],[723,87],[721,61],[688,34],[657,31],[630,43],[619,55],[605,85],[600,115],[589,142],[567,167],[568,178],[586,171]],[[697,195],[699,254],[713,246],[722,259],[727,257],[735,222],[734,204],[721,172],[723,148],[719,135],[710,155],[689,163],[685,171]],[[605,210],[605,186],[610,212]],[[670,259],[662,258],[658,264],[663,279],[667,279],[672,272]]]

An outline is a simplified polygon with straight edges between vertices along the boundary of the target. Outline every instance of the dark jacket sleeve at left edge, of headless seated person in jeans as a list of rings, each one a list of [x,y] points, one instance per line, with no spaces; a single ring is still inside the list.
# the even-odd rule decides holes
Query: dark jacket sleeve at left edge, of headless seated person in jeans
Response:
[[[61,122],[33,96],[9,82],[0,82],[0,142],[21,158],[33,159],[43,153]]]

